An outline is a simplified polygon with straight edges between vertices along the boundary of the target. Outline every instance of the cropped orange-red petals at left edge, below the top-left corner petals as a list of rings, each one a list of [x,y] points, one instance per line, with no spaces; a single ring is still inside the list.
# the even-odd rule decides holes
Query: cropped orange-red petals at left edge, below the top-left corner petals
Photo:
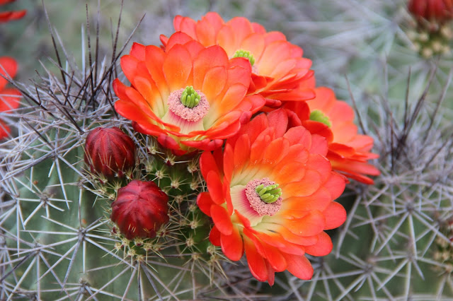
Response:
[[[5,88],[6,78],[16,76],[17,62],[11,57],[0,57],[0,113],[8,112],[19,106],[21,93],[15,88]],[[4,77],[2,77],[4,76]],[[9,127],[0,120],[0,139],[8,136]]]

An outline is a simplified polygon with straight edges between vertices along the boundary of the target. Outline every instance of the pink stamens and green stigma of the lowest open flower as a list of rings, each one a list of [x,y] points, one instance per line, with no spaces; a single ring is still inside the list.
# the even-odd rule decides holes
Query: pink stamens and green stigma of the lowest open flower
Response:
[[[259,216],[273,216],[282,206],[282,189],[267,177],[246,184],[246,197]]]

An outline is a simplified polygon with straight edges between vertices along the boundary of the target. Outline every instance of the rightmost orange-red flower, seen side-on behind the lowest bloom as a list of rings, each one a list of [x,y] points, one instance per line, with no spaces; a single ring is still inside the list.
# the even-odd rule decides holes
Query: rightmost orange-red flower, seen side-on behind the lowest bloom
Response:
[[[380,174],[376,167],[367,163],[368,160],[379,158],[379,155],[370,153],[373,138],[357,134],[352,107],[337,100],[333,90],[316,88],[314,100],[287,103],[285,107],[297,114],[311,134],[326,137],[327,158],[333,170],[365,184],[374,183],[367,177]]]

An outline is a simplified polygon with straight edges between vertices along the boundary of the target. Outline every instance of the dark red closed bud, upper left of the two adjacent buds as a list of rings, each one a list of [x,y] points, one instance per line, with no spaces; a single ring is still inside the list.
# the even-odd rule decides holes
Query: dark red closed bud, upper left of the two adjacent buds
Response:
[[[122,177],[135,165],[134,141],[117,127],[93,129],[86,136],[85,162],[91,172]]]

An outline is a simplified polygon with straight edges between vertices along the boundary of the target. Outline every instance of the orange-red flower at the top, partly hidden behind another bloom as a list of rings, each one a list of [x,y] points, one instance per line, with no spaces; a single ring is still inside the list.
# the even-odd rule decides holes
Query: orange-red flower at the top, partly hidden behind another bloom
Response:
[[[230,58],[250,58],[253,81],[249,93],[263,95],[267,106],[314,98],[313,90],[303,84],[313,76],[311,60],[302,57],[302,49],[287,42],[282,33],[267,33],[262,25],[241,17],[225,22],[214,12],[198,21],[176,16],[173,25],[177,32],[190,35],[204,46],[219,45]],[[168,38],[161,35],[161,42],[165,47]]]

